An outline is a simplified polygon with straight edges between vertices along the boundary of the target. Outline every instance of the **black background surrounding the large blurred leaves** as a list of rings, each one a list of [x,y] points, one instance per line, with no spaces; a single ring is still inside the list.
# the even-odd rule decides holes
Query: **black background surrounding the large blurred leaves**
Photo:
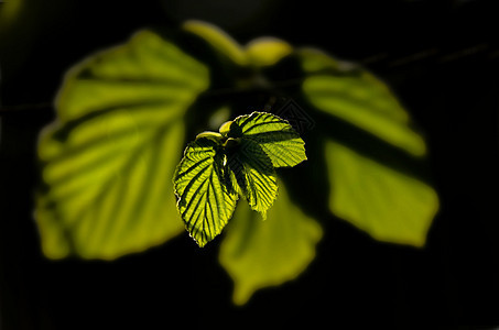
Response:
[[[1,329],[499,326],[499,20],[492,3],[24,1],[13,26],[0,33]],[[51,102],[64,72],[139,28],[175,28],[193,16],[241,43],[275,35],[317,46],[387,81],[430,146],[441,211],[426,248],[375,242],[335,221],[325,226],[317,257],[302,276],[258,292],[243,307],[230,302],[232,283],[216,243],[200,250],[187,234],[110,263],[45,260],[32,218],[34,151],[39,130],[54,118]]]

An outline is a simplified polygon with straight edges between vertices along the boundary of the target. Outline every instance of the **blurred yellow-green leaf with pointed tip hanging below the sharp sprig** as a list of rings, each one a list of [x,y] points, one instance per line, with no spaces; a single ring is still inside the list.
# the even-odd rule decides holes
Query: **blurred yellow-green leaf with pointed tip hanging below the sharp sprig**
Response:
[[[235,304],[246,304],[260,288],[295,278],[315,256],[321,226],[290,200],[282,182],[280,185],[268,221],[259,221],[242,202],[227,226],[219,261],[235,282]]]

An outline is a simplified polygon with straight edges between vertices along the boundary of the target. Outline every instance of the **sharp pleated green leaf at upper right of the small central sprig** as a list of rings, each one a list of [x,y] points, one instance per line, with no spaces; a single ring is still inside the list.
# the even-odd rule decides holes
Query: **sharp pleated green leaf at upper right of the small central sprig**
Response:
[[[234,120],[229,136],[242,138],[261,146],[274,167],[295,166],[306,161],[305,142],[290,123],[274,114],[253,112]]]

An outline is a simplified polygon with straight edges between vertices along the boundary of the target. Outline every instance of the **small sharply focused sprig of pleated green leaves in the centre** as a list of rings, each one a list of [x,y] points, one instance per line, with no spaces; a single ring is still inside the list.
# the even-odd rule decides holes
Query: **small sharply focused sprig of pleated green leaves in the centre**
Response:
[[[274,165],[268,154],[288,166],[306,160],[304,142],[291,125],[264,112],[228,121],[219,133],[199,133],[186,148],[173,182],[178,211],[199,246],[221,232],[239,193],[267,219],[267,210],[278,196]]]

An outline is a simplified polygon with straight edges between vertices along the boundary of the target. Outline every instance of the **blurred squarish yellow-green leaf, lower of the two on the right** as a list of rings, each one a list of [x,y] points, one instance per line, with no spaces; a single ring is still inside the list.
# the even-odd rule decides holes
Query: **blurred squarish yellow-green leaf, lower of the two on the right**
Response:
[[[328,141],[329,208],[379,241],[423,246],[438,197],[429,185]]]

